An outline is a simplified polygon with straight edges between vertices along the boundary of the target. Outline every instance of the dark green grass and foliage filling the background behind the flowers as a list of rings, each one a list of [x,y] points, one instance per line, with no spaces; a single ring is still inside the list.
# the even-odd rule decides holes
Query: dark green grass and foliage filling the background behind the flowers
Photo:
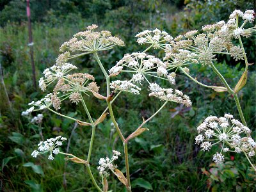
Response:
[[[142,50],[136,44],[134,35],[143,29],[164,29],[176,36],[190,29],[201,29],[204,24],[227,20],[236,8],[242,11],[253,9],[253,3],[238,0],[31,0],[36,77],[39,79],[42,71],[54,64],[60,45],[89,24],[98,24],[100,29],[109,30],[125,41],[125,47],[100,54],[104,66],[109,68],[125,53]],[[0,26],[0,62],[4,79],[4,84],[0,84],[0,191],[93,191],[82,166],[68,163],[65,172],[67,182],[64,182],[63,156],[57,156],[52,162],[46,161],[47,157],[34,159],[30,156],[40,140],[36,134],[38,127],[20,113],[28,108],[28,102],[39,99],[43,93],[33,90],[26,1],[0,0]],[[246,40],[245,47],[249,62],[255,62],[255,37]],[[229,83],[237,82],[243,64],[228,57],[218,60],[221,63],[216,67]],[[100,74],[90,56],[77,59],[75,64],[83,72]],[[205,84],[220,84],[207,67],[195,66],[191,68],[191,74],[197,75]],[[96,81],[104,88],[101,78],[96,76]],[[255,191],[255,175],[248,169],[246,161],[236,154],[230,154],[223,166],[217,166],[211,161],[212,154],[200,152],[194,141],[195,127],[205,117],[229,112],[239,118],[232,96],[205,90],[182,74],[177,78],[178,88],[189,95],[193,107],[168,106],[148,124],[150,131],[131,141],[132,188],[136,191]],[[239,97],[243,100],[242,108],[248,126],[255,130],[255,65],[250,66],[248,83]],[[92,100],[88,102],[89,108],[93,116],[99,116],[104,106],[102,102]],[[94,104],[97,104],[97,110]],[[147,118],[159,105],[160,102],[148,97],[137,98],[127,94],[118,99],[114,113],[118,117],[118,124],[131,132],[140,125],[142,116]],[[69,116],[85,116],[82,109],[76,111],[73,105],[61,111],[69,113]],[[44,113],[42,127],[45,138],[58,134],[69,138],[74,122],[47,112]],[[69,152],[85,158],[90,132],[84,127],[77,127],[72,134]],[[117,138],[109,118],[99,125],[92,156],[92,169],[96,177],[98,159],[110,155],[113,148],[122,148]],[[119,167],[124,168],[124,159],[118,161]],[[113,191],[125,190],[116,179],[109,180],[109,185]]]

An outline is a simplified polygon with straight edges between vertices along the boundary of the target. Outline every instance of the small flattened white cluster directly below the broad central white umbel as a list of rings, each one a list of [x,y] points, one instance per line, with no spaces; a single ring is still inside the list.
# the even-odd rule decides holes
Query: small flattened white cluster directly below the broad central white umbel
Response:
[[[129,81],[126,81],[126,80],[125,81],[120,81],[120,80],[112,81],[110,83],[110,88],[124,91],[124,92],[130,92],[135,95],[140,95],[140,90],[141,90],[141,88],[139,88],[135,84],[133,84]]]

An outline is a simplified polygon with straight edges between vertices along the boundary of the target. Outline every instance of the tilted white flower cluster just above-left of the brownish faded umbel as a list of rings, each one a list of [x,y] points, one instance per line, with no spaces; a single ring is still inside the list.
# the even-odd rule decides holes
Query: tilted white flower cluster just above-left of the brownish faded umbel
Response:
[[[43,72],[44,77],[39,80],[40,89],[44,92],[48,84],[56,79],[61,79],[72,69],[77,69],[77,67],[70,63],[61,63],[61,65],[53,65],[51,68],[46,68]]]

